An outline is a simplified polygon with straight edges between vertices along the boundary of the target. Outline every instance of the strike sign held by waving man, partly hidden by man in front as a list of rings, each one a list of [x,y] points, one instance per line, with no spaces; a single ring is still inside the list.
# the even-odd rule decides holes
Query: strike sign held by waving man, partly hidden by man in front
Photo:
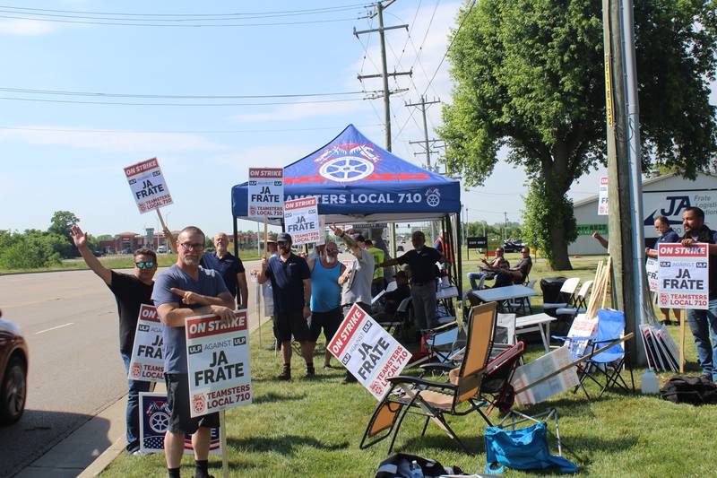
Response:
[[[142,304],[140,307],[127,378],[145,382],[164,381],[162,325],[154,306]]]

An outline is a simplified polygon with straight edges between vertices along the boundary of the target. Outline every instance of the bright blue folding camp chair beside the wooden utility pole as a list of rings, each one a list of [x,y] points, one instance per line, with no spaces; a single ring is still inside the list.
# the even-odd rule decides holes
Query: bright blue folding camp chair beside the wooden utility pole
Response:
[[[618,387],[626,393],[635,393],[635,377],[633,369],[626,361],[626,353],[622,342],[625,333],[625,313],[619,310],[599,309],[598,310],[598,332],[588,337],[556,337],[565,340],[567,344],[582,344],[581,347],[571,347],[571,359],[577,361],[600,349],[606,350],[595,354],[590,359],[577,365],[580,384],[574,388],[582,388],[588,400],[591,396],[585,388],[585,382],[591,380],[600,387],[602,396],[609,387]],[[610,344],[613,344],[611,347]],[[622,369],[630,372],[630,386],[622,377]]]

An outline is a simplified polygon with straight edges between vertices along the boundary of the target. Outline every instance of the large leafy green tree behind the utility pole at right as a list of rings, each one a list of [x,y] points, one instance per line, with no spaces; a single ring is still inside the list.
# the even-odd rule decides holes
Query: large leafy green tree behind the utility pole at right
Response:
[[[714,0],[636,0],[635,43],[643,169],[687,178],[714,167],[717,118],[709,81],[717,66]],[[480,0],[466,4],[449,50],[453,102],[439,134],[446,161],[477,186],[497,153],[523,166],[545,222],[526,232],[554,269],[570,269],[574,238],[566,193],[605,162],[601,4],[595,0]],[[537,229],[536,229],[537,228]]]

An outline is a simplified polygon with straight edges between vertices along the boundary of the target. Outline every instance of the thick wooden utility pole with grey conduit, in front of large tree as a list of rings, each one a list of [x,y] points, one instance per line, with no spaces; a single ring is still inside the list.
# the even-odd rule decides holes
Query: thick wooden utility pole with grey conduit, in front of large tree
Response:
[[[622,2],[625,2],[623,9]],[[640,171],[638,103],[632,1],[602,0],[605,49],[605,97],[608,126],[609,253],[612,257],[613,309],[625,312],[630,361],[643,364],[639,324],[646,300],[644,224]],[[628,14],[626,12],[629,11]]]

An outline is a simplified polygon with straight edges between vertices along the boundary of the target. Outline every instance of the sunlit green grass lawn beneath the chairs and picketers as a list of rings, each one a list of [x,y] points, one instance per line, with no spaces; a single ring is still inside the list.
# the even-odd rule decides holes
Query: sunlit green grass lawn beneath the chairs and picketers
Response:
[[[575,261],[575,271],[563,275],[594,274],[595,258]],[[538,264],[532,278],[559,275]],[[543,275],[543,276],[544,276]],[[540,282],[540,281],[539,281]],[[540,299],[539,299],[540,301]],[[669,327],[677,340],[678,327]],[[263,327],[263,344],[271,335]],[[303,378],[300,359],[293,362],[294,379],[289,383],[273,379],[281,371],[280,359],[273,352],[259,349],[252,336],[252,379],[255,403],[227,413],[229,467],[231,476],[325,476],[370,477],[386,457],[387,440],[367,450],[358,448],[376,400],[358,385],[341,385],[341,369],[322,370],[323,347],[315,356],[319,376]],[[526,360],[542,353],[540,344],[529,345]],[[688,372],[698,374],[695,346],[687,338]],[[336,361],[333,361],[336,364]],[[410,370],[407,372],[411,373]],[[635,370],[635,386],[640,375]],[[661,381],[671,374],[662,374]],[[591,388],[595,391],[595,387]],[[538,413],[557,407],[564,453],[580,467],[580,476],[708,476],[714,474],[717,450],[713,447],[717,407],[696,408],[676,405],[658,396],[608,393],[588,402],[584,395],[565,393],[546,403],[523,409]],[[497,418],[497,412],[491,419]],[[475,451],[464,455],[442,430],[429,424],[420,438],[423,421],[409,416],[402,425],[396,449],[438,460],[443,465],[459,465],[468,473],[482,473],[485,467],[483,429],[478,414],[449,418],[454,430]],[[556,448],[553,446],[555,452]],[[193,460],[185,457],[183,476],[194,474]],[[105,477],[163,476],[164,457],[137,458],[124,453],[108,467]],[[220,459],[210,460],[211,473],[220,476]],[[508,471],[506,475],[527,476]],[[546,475],[546,474],[535,474]],[[547,474],[550,475],[550,474]]]

